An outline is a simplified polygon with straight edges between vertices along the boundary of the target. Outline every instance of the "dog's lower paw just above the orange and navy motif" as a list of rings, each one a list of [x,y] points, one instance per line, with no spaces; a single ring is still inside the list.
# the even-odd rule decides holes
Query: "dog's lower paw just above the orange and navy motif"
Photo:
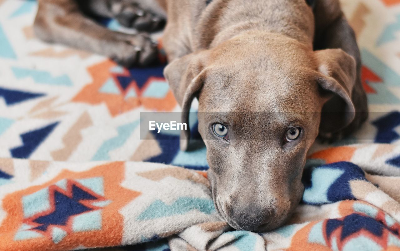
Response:
[[[116,41],[116,47],[112,60],[127,68],[148,66],[158,58],[157,43],[146,34],[120,38]]]

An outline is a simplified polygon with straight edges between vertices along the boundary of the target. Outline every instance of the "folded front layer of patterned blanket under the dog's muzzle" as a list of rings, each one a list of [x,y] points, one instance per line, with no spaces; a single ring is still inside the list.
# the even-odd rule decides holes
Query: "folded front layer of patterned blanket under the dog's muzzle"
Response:
[[[0,166],[14,177],[0,190],[0,250],[400,250],[399,158],[400,146],[389,144],[314,153],[302,203],[268,233],[222,221],[204,171],[4,158]],[[377,166],[380,175],[364,172]]]

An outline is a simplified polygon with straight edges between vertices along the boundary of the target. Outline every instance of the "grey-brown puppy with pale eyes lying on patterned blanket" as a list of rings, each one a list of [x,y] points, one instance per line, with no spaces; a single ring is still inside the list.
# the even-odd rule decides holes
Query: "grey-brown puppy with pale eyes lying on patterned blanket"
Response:
[[[88,15],[142,33],[107,30]],[[184,122],[198,98],[216,209],[235,229],[279,227],[301,200],[314,140],[348,135],[367,118],[360,52],[338,0],[39,0],[34,30],[146,66],[157,46],[143,31],[165,20],[164,75]],[[189,140],[182,131],[181,149]]]

